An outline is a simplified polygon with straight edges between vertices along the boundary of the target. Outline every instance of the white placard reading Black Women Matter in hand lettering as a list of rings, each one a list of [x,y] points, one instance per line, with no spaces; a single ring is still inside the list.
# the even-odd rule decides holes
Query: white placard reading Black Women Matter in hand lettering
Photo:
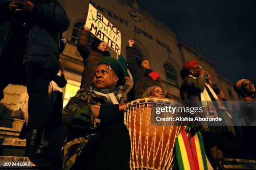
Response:
[[[84,30],[87,28],[90,28],[93,35],[106,42],[112,50],[121,54],[121,32],[91,4],[89,4]]]

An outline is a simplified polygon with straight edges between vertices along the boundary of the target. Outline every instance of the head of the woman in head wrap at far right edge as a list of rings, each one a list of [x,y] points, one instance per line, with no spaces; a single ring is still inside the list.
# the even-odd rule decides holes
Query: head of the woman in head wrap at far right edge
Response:
[[[241,79],[234,85],[235,91],[242,97],[244,101],[255,101],[256,93],[253,83],[248,79]]]

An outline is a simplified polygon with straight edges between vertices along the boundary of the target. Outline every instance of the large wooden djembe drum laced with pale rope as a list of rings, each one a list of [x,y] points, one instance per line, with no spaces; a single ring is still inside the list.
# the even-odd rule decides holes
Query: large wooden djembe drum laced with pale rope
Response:
[[[124,123],[131,138],[131,169],[172,169],[174,141],[181,126],[174,126],[174,122],[168,126],[151,125],[151,110],[166,105],[182,103],[162,97],[143,97],[125,107]]]

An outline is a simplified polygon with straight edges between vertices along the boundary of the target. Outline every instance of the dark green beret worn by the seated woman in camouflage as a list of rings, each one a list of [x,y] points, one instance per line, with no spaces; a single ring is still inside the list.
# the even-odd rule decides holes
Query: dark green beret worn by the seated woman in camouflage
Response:
[[[110,56],[102,57],[99,60],[99,62],[97,63],[97,66],[102,63],[110,65],[110,67],[115,70],[115,73],[118,75],[118,82],[117,82],[116,86],[119,86],[120,83],[122,83],[124,81],[123,66],[120,64],[120,62],[118,60],[116,60],[115,58],[110,57]]]

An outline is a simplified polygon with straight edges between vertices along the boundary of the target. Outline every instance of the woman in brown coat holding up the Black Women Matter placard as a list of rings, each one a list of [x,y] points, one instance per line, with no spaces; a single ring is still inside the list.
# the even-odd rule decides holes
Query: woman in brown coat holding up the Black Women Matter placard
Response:
[[[77,50],[84,62],[80,88],[90,87],[93,82],[93,73],[97,62],[104,56],[110,56],[110,53],[107,51],[108,45],[106,42],[96,39],[91,46],[89,46],[89,42],[90,29],[84,27],[84,30],[80,30],[77,40]]]

